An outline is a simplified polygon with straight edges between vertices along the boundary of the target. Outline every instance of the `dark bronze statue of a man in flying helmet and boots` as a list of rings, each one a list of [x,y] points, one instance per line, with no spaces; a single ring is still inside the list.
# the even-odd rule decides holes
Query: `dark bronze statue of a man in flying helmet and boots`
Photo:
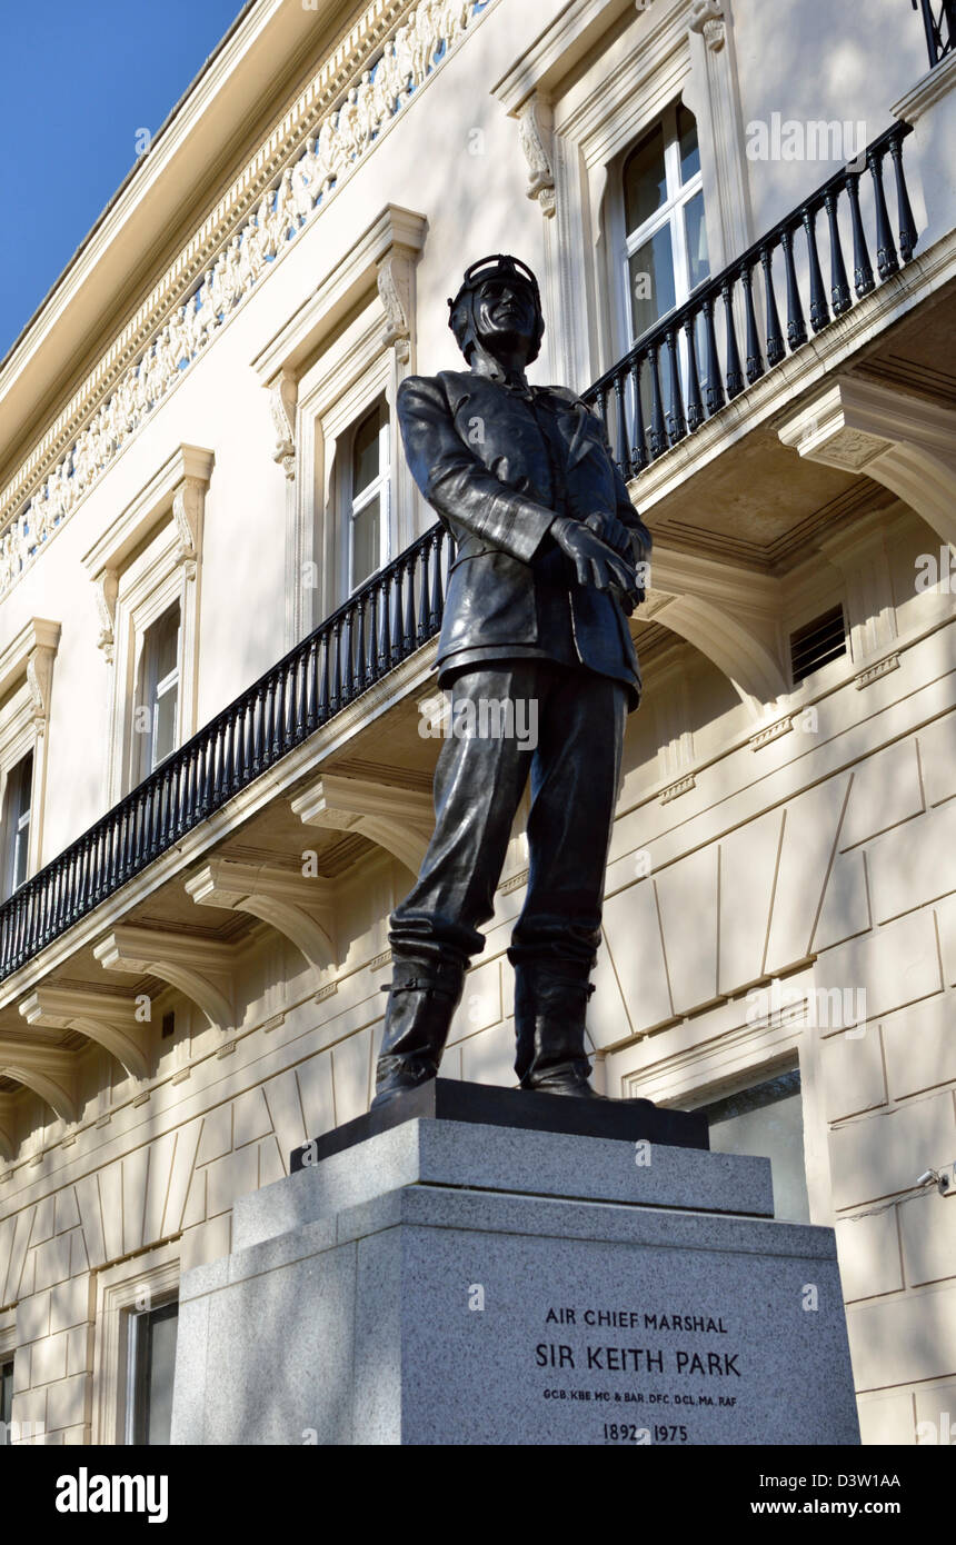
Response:
[[[391,918],[374,1105],[437,1074],[528,776],[528,891],[508,950],[514,1068],[522,1089],[593,1095],[584,1021],[624,722],[641,694],[627,615],[650,533],[601,420],[575,392],[525,380],[544,334],[531,270],[483,258],[449,307],[468,369],[409,377],[397,400],[412,476],[457,542],[439,641],[453,734],[422,873]],[[537,726],[533,751],[517,722]]]

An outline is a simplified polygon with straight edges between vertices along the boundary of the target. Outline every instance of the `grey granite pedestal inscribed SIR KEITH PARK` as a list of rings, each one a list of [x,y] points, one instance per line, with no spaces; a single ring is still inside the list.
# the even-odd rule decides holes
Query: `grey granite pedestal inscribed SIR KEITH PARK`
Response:
[[[541,1098],[564,1131],[439,1103],[241,1197],[173,1443],[857,1443],[832,1230],[774,1221],[766,1159]]]

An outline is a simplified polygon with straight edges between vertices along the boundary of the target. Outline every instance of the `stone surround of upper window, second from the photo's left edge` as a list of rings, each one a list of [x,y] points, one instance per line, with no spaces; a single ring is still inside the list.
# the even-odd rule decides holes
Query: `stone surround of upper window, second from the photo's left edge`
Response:
[[[96,587],[99,647],[111,666],[105,802],[139,782],[133,766],[136,667],[145,630],[179,603],[178,745],[196,731],[202,524],[213,453],[179,445],[83,555]]]

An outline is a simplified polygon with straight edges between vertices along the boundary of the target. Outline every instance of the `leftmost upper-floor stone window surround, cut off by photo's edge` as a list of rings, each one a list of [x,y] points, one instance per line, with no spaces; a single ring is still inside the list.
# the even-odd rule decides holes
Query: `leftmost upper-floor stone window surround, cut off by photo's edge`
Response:
[[[3,813],[3,891],[6,891],[6,780],[32,752],[29,800],[29,850],[26,874],[36,874],[43,854],[43,802],[46,793],[46,742],[53,663],[60,641],[60,624],[34,616],[0,654],[0,811]]]

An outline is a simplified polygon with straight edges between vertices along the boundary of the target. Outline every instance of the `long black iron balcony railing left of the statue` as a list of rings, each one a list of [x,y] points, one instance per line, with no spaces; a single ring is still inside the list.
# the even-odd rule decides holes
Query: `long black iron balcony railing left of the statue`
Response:
[[[221,810],[442,624],[453,539],[432,527],[0,907],[0,978]]]

